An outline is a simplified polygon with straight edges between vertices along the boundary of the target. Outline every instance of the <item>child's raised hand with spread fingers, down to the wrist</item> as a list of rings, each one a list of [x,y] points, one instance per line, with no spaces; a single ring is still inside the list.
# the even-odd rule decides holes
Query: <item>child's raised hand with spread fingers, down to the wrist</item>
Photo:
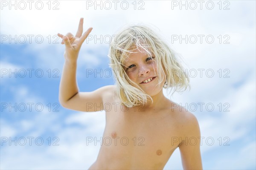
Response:
[[[80,18],[78,30],[75,37],[70,32],[67,33],[66,35],[62,35],[58,33],[58,37],[62,38],[61,44],[65,44],[66,48],[64,52],[64,57],[68,61],[76,62],[82,43],[88,37],[88,35],[93,29],[93,28],[87,29],[87,31],[85,31],[84,34],[82,35],[83,23],[84,23],[84,18]]]

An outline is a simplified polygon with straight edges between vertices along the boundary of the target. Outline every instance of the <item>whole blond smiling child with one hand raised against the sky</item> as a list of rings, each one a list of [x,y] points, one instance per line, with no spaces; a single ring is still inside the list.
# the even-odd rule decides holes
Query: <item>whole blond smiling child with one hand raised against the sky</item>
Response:
[[[81,18],[76,36],[58,34],[65,44],[59,102],[76,111],[106,112],[106,140],[89,169],[160,170],[178,147],[183,168],[201,170],[196,117],[163,95],[163,88],[189,87],[186,76],[172,72],[183,69],[172,49],[146,26],[125,28],[112,40],[108,55],[116,84],[79,92],[77,58],[91,31],[82,34]]]

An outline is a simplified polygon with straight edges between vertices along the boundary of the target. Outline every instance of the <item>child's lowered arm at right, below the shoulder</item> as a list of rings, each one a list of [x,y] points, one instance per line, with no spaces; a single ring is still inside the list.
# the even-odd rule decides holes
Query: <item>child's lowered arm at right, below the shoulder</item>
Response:
[[[200,153],[201,134],[196,117],[187,112],[183,124],[183,137],[179,144],[183,169],[201,170],[202,161]]]

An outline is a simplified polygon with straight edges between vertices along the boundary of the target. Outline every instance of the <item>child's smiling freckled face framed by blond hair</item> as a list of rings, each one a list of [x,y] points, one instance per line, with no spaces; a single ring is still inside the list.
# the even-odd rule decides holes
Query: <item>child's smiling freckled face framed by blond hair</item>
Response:
[[[126,59],[124,63],[125,71],[128,77],[139,85],[146,94],[154,96],[162,90],[165,81],[163,80],[158,88],[159,73],[157,71],[157,63],[145,51],[141,51],[134,50],[133,52],[136,53],[131,53]],[[152,57],[154,58],[154,56]]]

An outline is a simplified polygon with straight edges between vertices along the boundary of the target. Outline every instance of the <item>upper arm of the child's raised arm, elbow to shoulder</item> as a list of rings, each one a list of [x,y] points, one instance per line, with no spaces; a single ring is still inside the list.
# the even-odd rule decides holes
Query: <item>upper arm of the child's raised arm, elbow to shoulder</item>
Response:
[[[91,92],[79,92],[67,102],[61,105],[64,108],[76,110],[76,111],[102,111],[103,110],[103,98],[111,91],[113,91],[114,85],[107,85],[98,88]]]

